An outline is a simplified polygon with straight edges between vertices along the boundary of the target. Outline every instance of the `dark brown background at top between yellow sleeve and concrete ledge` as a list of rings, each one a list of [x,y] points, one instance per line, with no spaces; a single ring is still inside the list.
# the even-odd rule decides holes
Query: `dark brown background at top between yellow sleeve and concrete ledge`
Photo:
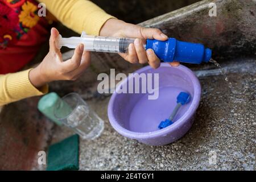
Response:
[[[200,0],[92,0],[107,13],[129,23],[141,23]]]

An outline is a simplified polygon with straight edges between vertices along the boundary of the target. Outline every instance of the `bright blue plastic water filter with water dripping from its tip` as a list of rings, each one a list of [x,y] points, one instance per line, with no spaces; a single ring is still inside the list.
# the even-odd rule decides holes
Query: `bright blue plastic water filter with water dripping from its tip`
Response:
[[[208,63],[212,50],[202,44],[181,42],[175,38],[166,41],[147,39],[146,49],[153,49],[156,56],[164,62],[179,61],[182,63]]]

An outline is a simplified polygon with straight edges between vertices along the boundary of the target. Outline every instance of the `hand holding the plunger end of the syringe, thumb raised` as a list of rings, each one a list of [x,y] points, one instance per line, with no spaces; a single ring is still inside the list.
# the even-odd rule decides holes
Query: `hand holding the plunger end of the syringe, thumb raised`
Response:
[[[76,47],[71,59],[63,61],[60,49],[56,47],[58,36],[57,29],[52,28],[48,54],[29,73],[30,82],[36,88],[56,80],[76,80],[90,65],[90,53],[84,51],[84,44]]]

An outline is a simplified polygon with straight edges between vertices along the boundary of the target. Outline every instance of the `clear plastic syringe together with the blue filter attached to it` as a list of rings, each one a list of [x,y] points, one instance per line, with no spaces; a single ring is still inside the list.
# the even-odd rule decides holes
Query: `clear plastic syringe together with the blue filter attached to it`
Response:
[[[63,46],[76,48],[79,44],[84,44],[86,51],[125,53],[129,45],[134,43],[132,38],[113,38],[105,36],[86,35],[84,32],[81,37],[63,38],[59,35],[57,47]],[[174,38],[166,41],[147,39],[145,49],[153,49],[156,56],[164,62],[180,61],[183,63],[200,64],[208,63],[212,57],[212,50],[205,48],[203,44],[181,42]]]

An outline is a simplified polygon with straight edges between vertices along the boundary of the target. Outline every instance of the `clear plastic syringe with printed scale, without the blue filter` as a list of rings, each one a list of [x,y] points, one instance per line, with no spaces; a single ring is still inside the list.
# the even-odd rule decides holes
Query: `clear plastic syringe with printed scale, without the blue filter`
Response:
[[[134,43],[134,40],[135,39],[131,38],[112,38],[90,35],[62,38],[60,35],[57,41],[57,47],[61,48],[62,46],[65,46],[76,48],[79,44],[84,44],[84,49],[86,51],[125,53],[127,52],[129,45]]]

